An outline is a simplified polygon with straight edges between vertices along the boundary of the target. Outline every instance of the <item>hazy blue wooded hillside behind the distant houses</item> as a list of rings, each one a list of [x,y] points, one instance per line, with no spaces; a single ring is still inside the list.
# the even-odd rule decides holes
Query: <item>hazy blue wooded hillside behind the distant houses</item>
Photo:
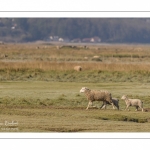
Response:
[[[0,18],[0,41],[56,40],[149,43],[148,18]],[[85,41],[86,42],[86,41]]]

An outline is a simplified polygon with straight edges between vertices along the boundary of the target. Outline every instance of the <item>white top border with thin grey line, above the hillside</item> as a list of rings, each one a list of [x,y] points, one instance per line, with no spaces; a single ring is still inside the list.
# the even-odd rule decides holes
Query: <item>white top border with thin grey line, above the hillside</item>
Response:
[[[148,0],[1,0],[0,17],[149,17]]]

